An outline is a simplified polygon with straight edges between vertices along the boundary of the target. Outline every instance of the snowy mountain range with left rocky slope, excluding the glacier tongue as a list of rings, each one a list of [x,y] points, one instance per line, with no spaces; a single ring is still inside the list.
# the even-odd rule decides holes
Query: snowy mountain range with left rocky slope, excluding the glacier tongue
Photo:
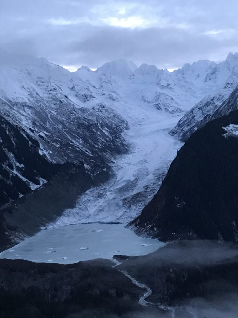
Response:
[[[1,113],[30,134],[31,128],[34,136],[41,135],[42,151],[59,162],[78,156],[84,160],[86,156],[90,162],[90,157],[99,152],[107,158],[109,152],[123,152],[125,145],[119,134],[129,128],[127,122],[133,124],[140,119],[139,105],[173,114],[199,103],[193,115],[193,121],[197,121],[220,105],[238,83],[238,53],[229,53],[219,64],[201,60],[173,73],[154,65],[138,68],[122,59],[106,63],[96,72],[82,66],[70,73],[43,58],[4,50],[0,58]],[[179,125],[187,127],[183,121]],[[90,149],[89,144],[97,144],[98,151]],[[59,147],[67,153],[62,155]]]

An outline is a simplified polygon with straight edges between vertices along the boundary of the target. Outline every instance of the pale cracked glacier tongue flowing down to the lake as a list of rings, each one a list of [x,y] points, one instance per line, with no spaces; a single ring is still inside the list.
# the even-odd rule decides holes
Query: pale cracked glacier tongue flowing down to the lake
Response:
[[[89,222],[126,225],[149,203],[182,146],[182,142],[169,135],[180,116],[140,106],[137,114],[140,119],[123,134],[129,151],[115,158],[111,180],[87,190],[74,209],[64,211],[56,222],[44,228]]]

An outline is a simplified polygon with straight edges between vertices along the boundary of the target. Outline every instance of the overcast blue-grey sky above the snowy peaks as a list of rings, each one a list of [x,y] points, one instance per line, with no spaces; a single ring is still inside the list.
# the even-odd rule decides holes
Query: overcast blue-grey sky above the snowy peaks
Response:
[[[77,68],[174,69],[238,52],[238,0],[1,0],[1,46]]]

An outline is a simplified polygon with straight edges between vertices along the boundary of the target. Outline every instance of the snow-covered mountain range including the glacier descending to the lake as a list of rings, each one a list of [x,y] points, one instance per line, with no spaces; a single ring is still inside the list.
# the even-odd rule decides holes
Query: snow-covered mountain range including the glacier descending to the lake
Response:
[[[219,64],[198,61],[173,73],[126,60],[106,63],[95,72],[82,66],[70,73],[46,59],[1,50],[0,114],[38,142],[38,153],[49,162],[83,162],[92,185],[114,170],[116,182],[109,191],[104,187],[82,198],[77,221],[88,215],[90,221],[129,221],[156,193],[181,147],[168,131],[195,104],[203,110],[191,125],[228,97],[238,84],[237,57],[230,53]],[[210,100],[211,106],[204,107]],[[12,154],[6,154],[10,162]],[[23,170],[16,171],[23,180]]]

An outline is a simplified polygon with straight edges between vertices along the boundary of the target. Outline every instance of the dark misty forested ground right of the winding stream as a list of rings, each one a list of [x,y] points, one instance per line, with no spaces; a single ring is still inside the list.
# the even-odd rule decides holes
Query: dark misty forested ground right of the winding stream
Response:
[[[122,262],[118,268],[151,288],[148,302],[176,306],[179,300],[188,303],[192,298],[201,297],[204,305],[205,299],[211,296],[217,301],[237,293],[237,247],[232,242],[178,240],[147,255],[118,259]],[[191,316],[180,313],[175,317]],[[193,317],[204,316],[195,314]]]

